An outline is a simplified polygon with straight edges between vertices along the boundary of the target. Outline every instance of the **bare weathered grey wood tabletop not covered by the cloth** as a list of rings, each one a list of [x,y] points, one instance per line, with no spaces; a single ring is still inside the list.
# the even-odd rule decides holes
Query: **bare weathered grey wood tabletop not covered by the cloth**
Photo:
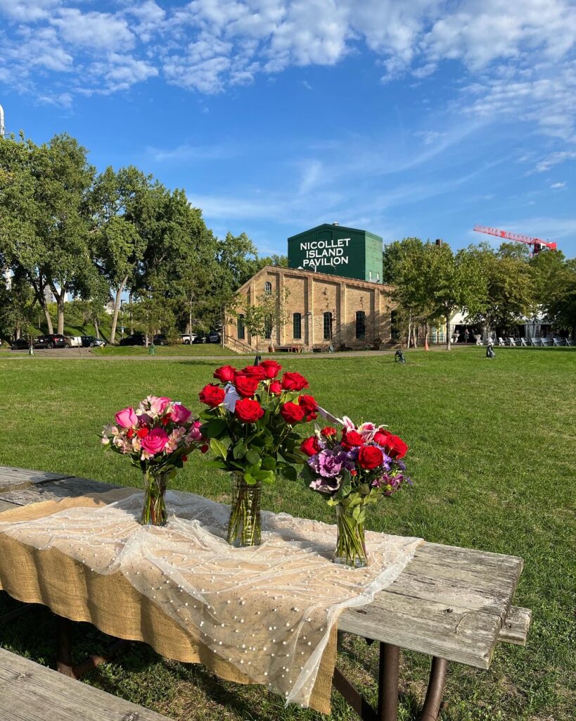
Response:
[[[14,505],[112,487],[65,474],[0,466],[0,513]],[[399,578],[372,603],[343,612],[338,630],[437,659],[490,668],[498,641],[526,642],[531,612],[511,605],[522,567],[522,559],[515,556],[423,544]],[[380,710],[374,713],[374,718],[394,717]],[[363,717],[372,718],[369,713]]]

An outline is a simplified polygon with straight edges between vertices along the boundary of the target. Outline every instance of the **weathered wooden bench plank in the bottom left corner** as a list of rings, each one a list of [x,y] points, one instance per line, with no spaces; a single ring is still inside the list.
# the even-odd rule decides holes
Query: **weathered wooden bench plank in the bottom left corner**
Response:
[[[166,716],[0,648],[2,721],[166,721]]]

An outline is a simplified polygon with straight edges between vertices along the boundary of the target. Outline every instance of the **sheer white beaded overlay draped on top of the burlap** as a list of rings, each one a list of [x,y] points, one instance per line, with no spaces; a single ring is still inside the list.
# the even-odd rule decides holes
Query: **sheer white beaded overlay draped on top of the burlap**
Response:
[[[212,653],[304,706],[338,615],[372,601],[422,542],[366,531],[369,566],[348,569],[331,562],[335,525],[263,512],[262,544],[236,549],[225,541],[228,505],[168,492],[168,524],[154,527],[138,523],[142,501],[138,493],[0,522],[0,532],[104,575],[121,572]]]

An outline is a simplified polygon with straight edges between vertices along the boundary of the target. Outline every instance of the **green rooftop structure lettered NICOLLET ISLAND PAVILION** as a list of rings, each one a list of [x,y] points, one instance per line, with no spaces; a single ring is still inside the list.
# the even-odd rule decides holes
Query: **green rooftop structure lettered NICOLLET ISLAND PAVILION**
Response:
[[[382,283],[382,238],[325,223],[289,237],[288,267]]]

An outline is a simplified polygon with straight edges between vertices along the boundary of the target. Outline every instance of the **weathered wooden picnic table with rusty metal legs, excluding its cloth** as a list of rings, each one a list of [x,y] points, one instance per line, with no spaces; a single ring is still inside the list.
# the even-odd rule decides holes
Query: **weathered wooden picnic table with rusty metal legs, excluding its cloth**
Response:
[[[0,466],[0,513],[114,487],[66,474]],[[333,685],[363,721],[396,721],[400,650],[430,655],[430,681],[420,719],[435,720],[449,662],[488,669],[498,642],[526,643],[531,611],[512,606],[522,567],[522,559],[515,556],[422,544],[397,580],[377,593],[372,603],[347,609],[338,619],[338,632],[379,642],[377,708],[338,668]],[[119,640],[109,654],[73,666],[70,626],[59,619],[57,668],[74,678],[109,660],[128,642]]]

